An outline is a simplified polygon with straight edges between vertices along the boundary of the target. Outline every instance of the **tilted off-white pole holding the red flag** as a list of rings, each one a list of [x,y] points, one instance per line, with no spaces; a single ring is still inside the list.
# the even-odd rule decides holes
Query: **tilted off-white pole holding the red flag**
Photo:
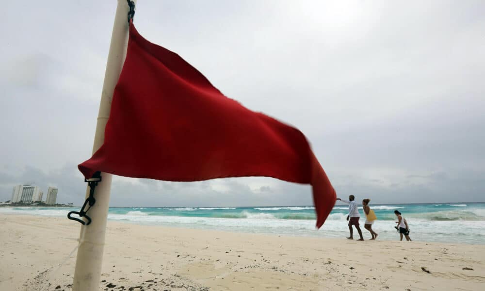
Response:
[[[136,2],[136,0],[133,0],[133,2]],[[104,129],[110,116],[114,87],[125,62],[128,45],[128,11],[127,1],[118,0],[99,104],[93,154],[103,144]],[[102,181],[98,183],[94,193],[96,204],[89,210],[92,222],[89,226],[81,226],[80,244],[72,285],[73,291],[94,291],[99,288],[112,177],[111,174],[101,173]],[[89,191],[90,188],[87,187],[86,198],[89,196]]]

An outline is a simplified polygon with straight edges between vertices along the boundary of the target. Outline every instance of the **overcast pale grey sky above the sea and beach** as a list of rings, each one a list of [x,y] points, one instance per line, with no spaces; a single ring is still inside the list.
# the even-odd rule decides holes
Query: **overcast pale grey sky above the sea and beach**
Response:
[[[116,1],[7,1],[0,201],[81,205]],[[485,201],[484,1],[139,1],[134,23],[223,94],[300,129],[339,197]],[[253,145],[257,146],[257,145]],[[113,177],[111,206],[311,205],[272,178]]]

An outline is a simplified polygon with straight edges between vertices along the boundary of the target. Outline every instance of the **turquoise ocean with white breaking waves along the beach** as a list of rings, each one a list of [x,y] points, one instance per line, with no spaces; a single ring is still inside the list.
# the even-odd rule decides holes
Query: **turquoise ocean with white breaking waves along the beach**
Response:
[[[394,210],[402,212],[414,241],[485,244],[485,203],[370,205],[377,221],[372,228],[379,240],[398,240]],[[3,207],[0,213],[64,217],[79,207]],[[282,236],[344,238],[348,236],[348,207],[337,205],[320,230],[315,229],[313,206],[275,207],[112,207],[108,219],[132,224],[158,225]],[[365,218],[360,207],[363,228]],[[73,224],[77,223],[75,221]],[[356,231],[354,237],[356,237]]]

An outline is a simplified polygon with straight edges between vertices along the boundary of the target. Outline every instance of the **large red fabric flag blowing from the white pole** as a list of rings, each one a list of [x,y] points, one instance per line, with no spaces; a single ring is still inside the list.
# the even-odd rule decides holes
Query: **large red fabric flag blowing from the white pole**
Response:
[[[336,195],[298,129],[227,98],[176,53],[131,24],[104,144],[79,166],[166,181],[266,176],[313,186],[317,227]]]

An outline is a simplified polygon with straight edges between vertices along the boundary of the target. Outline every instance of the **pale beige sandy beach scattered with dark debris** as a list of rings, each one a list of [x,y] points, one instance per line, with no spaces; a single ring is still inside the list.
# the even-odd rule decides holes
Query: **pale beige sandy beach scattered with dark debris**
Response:
[[[0,223],[0,290],[72,289],[76,253],[68,256],[77,245],[78,223],[4,214]],[[485,290],[484,264],[485,245],[109,221],[99,290]]]

